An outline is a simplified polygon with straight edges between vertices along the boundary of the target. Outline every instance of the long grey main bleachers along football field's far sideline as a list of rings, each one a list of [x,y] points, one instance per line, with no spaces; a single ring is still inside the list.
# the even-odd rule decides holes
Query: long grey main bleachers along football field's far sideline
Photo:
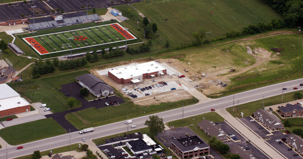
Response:
[[[37,20],[36,23],[31,24],[30,20],[28,20],[28,29],[29,31],[33,30],[40,30],[40,29],[46,29],[46,28],[55,28],[58,26],[65,26],[65,25],[73,25],[73,24],[80,24],[83,23],[83,21],[99,21],[100,17],[98,14],[93,15],[83,15],[79,17],[72,17],[71,18],[65,18],[67,16],[63,16],[62,20],[55,21],[52,17],[45,17],[45,18],[39,18],[38,23]],[[41,22],[42,21],[42,22]]]

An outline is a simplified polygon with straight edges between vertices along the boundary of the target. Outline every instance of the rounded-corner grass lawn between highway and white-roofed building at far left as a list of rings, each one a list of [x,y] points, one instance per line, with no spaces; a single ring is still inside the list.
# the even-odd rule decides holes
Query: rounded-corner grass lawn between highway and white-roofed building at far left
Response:
[[[19,145],[65,133],[66,131],[63,127],[61,127],[54,119],[36,120],[6,127],[0,130],[1,138],[10,145]]]

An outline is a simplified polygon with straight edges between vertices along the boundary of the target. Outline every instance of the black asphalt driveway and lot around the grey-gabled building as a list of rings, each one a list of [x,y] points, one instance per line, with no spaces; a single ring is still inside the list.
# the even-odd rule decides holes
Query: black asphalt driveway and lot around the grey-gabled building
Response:
[[[60,86],[62,87],[62,89],[59,89],[59,91],[62,92],[63,94],[70,93],[70,95],[68,95],[67,97],[74,97],[74,98],[78,99],[81,102],[81,107],[63,111],[63,112],[57,112],[57,113],[45,115],[45,117],[53,118],[57,123],[59,123],[67,131],[69,131],[69,130],[71,130],[71,132],[79,131],[74,125],[72,125],[70,122],[68,122],[65,119],[65,115],[68,113],[78,112],[78,111],[81,111],[81,110],[84,110],[87,108],[91,108],[91,107],[95,107],[98,109],[107,107],[107,105],[105,105],[105,102],[114,103],[114,100],[117,100],[119,104],[125,103],[123,98],[116,97],[115,95],[109,96],[109,99],[102,98],[102,101],[100,101],[100,100],[97,100],[97,102],[87,101],[85,98],[83,98],[80,95],[79,92],[80,92],[80,89],[82,88],[82,86],[77,82],[68,83],[68,84],[60,85]]]

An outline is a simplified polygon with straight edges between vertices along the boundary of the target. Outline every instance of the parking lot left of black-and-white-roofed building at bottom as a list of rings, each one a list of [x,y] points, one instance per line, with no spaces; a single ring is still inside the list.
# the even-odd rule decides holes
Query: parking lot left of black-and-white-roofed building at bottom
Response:
[[[119,156],[121,156],[120,158],[124,159],[124,157],[130,156],[123,149],[123,146],[125,146],[125,142],[131,141],[136,138],[142,139],[142,134],[140,132],[138,134],[139,135],[129,134],[129,135],[125,135],[125,137],[119,136],[119,137],[115,137],[115,138],[106,139],[106,140],[104,140],[106,142],[106,144],[99,145],[98,148],[100,150],[102,150],[102,152],[105,153],[108,157],[115,156],[115,158],[118,158]],[[106,149],[107,149],[107,151],[105,151]],[[124,156],[122,154],[123,152],[126,153],[126,154],[124,154]],[[135,157],[135,158],[137,159],[137,157]]]

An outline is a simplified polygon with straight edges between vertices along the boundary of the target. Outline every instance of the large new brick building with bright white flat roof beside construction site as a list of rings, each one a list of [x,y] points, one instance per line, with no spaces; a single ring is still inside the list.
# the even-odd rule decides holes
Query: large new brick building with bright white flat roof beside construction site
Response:
[[[162,77],[166,74],[166,68],[155,61],[125,66],[108,71],[108,77],[117,83],[124,85],[138,83],[144,79]]]

